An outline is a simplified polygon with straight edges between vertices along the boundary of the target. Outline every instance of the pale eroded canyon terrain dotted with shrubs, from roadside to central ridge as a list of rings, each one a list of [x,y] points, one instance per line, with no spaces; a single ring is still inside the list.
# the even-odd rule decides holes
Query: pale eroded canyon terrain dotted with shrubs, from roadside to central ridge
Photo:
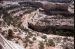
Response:
[[[57,12],[56,10],[51,11],[51,13],[55,12],[56,14],[49,13],[47,15],[47,12],[42,8],[19,4],[2,5],[3,9],[0,10],[0,34],[7,40],[19,44],[25,49],[74,49],[73,32],[58,30],[56,31],[57,35],[52,32],[56,29],[73,30],[73,15],[59,14],[62,11]],[[70,6],[67,12],[73,14],[74,7]],[[48,30],[49,34],[46,34]],[[51,32],[52,34],[50,34]],[[72,36],[70,36],[71,34]]]

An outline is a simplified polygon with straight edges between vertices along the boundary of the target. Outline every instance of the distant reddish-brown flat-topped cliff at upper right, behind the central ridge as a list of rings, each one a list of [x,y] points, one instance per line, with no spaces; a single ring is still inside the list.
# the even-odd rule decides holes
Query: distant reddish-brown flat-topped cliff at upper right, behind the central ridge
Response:
[[[48,10],[68,11],[68,6],[69,6],[69,3],[53,3],[53,2],[47,2],[47,1],[42,1],[40,3],[42,4],[42,8],[46,11]]]

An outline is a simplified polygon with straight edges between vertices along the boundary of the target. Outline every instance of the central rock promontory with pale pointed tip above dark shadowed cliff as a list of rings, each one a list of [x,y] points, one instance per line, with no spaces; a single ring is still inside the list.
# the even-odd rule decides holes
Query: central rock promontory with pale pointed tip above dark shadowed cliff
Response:
[[[61,15],[60,15],[61,16]],[[28,23],[29,27],[38,30],[44,31],[48,30],[49,28],[56,28],[56,29],[70,29],[73,30],[74,28],[74,19],[73,18],[62,18],[59,16],[48,16],[44,14],[36,14]]]

